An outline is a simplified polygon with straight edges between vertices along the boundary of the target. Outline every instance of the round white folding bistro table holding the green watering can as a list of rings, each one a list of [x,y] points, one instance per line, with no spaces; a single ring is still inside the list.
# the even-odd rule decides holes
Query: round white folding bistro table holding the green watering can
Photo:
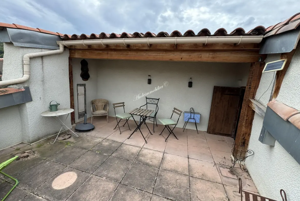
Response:
[[[74,109],[71,109],[71,108],[65,108],[65,109],[58,109],[58,110],[55,111],[55,112],[44,111],[44,112],[41,113],[41,115],[44,116],[44,117],[52,117],[55,121],[57,121],[57,122],[59,123],[59,125],[61,125],[61,129],[64,129],[64,131],[67,132],[66,129],[64,128],[64,126],[65,126],[65,127],[67,127],[67,126],[66,126],[64,123],[66,122],[66,120],[67,120],[69,114],[70,114],[71,112],[73,112],[73,111],[74,111]],[[67,117],[65,118],[64,121],[62,121],[62,120],[59,118],[59,116],[62,116],[62,115],[64,115],[64,114],[67,114]],[[58,119],[60,122],[59,122],[55,117],[57,117],[57,119]],[[57,134],[57,136],[56,136],[54,142],[51,143],[51,144],[54,144],[55,141],[56,141],[56,139],[57,139],[57,137],[58,137],[58,135],[59,135],[60,133],[64,132],[64,131],[61,132],[61,129],[59,130],[59,132],[58,132],[58,134]],[[78,137],[78,135],[77,135],[76,133],[74,133],[70,128],[67,127],[67,129],[70,130],[70,131],[72,132],[72,133],[68,133],[68,132],[67,132],[68,134],[71,134],[71,135],[74,135],[74,136]]]

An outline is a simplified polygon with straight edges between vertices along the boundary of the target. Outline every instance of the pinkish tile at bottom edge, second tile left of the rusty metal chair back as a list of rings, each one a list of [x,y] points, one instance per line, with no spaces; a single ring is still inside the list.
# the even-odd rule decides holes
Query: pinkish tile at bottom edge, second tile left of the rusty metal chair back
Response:
[[[222,184],[190,177],[191,201],[228,201]]]

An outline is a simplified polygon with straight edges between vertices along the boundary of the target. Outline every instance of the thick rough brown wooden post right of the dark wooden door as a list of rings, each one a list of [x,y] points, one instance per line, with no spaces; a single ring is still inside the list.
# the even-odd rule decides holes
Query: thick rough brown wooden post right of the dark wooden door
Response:
[[[249,106],[249,99],[255,99],[256,90],[259,86],[264,66],[265,62],[253,62],[250,65],[240,119],[238,121],[238,130],[235,137],[235,148],[238,148],[239,146],[248,147],[255,114],[253,109]]]

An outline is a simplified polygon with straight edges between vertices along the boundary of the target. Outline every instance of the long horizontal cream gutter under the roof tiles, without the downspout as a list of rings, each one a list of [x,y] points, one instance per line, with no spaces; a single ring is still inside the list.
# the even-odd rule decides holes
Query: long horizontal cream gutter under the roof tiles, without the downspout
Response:
[[[131,45],[131,44],[187,44],[187,43],[260,43],[263,36],[213,36],[213,37],[168,37],[168,38],[116,38],[97,40],[57,41],[57,44],[71,45]]]

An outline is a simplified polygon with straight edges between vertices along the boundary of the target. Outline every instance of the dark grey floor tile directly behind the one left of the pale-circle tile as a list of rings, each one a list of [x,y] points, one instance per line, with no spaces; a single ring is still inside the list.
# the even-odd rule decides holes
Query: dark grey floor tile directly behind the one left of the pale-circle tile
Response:
[[[64,165],[68,165],[79,158],[81,155],[83,155],[85,152],[87,152],[86,149],[82,149],[76,146],[68,146],[60,152],[52,155],[48,159]]]

